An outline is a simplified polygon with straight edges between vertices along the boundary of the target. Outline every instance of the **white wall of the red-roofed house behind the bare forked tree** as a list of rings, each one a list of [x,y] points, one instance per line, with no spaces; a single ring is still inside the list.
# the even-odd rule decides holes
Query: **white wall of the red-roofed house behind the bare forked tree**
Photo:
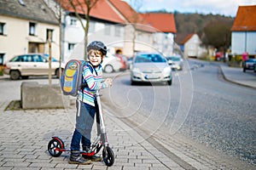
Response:
[[[71,19],[76,19],[74,17],[66,17],[66,26],[64,29],[64,61],[71,58],[84,58],[84,29],[77,19],[76,26],[71,26]],[[86,20],[83,20],[84,26]],[[90,20],[90,26],[94,27],[94,31],[89,31],[88,42],[92,41],[102,41],[104,42],[110,53],[114,54],[115,48],[124,48],[124,26],[122,25],[110,25],[103,22],[97,22],[95,20]],[[106,33],[106,29],[109,32]],[[119,29],[119,35],[116,35],[115,29]],[[90,29],[89,29],[90,30]],[[68,44],[76,44],[75,48],[72,50],[68,49]]]

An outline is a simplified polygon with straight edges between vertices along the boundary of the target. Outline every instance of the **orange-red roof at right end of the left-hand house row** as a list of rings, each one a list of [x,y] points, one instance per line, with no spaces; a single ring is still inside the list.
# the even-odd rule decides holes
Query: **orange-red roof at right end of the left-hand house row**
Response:
[[[176,33],[176,25],[173,14],[164,13],[148,13],[142,14],[143,18],[150,26],[153,26],[157,31]]]

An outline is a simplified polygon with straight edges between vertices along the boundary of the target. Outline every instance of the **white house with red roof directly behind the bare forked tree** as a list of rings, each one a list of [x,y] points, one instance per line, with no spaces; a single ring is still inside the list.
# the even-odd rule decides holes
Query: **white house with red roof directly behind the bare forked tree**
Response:
[[[83,3],[77,7],[77,12],[82,18],[83,26],[75,14],[75,10],[68,0],[44,0],[49,7],[58,14],[55,6],[61,4],[62,9],[62,59],[84,59],[84,27],[86,25],[86,5]],[[102,41],[108,46],[108,50],[114,53],[116,48],[124,48],[124,23],[125,20],[116,13],[107,0],[100,0],[90,10],[90,26],[88,42]]]

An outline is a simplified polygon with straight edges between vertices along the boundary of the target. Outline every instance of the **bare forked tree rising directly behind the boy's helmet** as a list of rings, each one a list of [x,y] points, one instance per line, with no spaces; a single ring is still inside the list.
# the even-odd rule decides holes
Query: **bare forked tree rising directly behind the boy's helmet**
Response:
[[[99,0],[68,0],[73,7],[76,17],[79,19],[79,22],[84,29],[84,60],[88,60],[86,47],[88,44],[88,32],[90,26],[90,10],[98,1]],[[86,19],[85,26],[83,23],[84,18]]]

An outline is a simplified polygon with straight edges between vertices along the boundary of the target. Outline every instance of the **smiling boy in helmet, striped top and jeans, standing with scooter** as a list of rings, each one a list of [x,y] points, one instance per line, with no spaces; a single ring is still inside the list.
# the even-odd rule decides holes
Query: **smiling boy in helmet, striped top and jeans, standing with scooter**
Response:
[[[80,154],[80,143],[83,150],[90,152],[90,133],[96,113],[95,93],[97,89],[111,87],[113,81],[107,78],[102,82],[102,59],[107,54],[107,47],[103,42],[90,42],[87,46],[88,59],[87,65],[84,65],[83,79],[87,86],[80,90],[76,101],[77,115],[76,127],[73,132],[73,138],[70,145],[71,164],[90,164],[90,161],[102,161],[102,156],[86,157]]]

